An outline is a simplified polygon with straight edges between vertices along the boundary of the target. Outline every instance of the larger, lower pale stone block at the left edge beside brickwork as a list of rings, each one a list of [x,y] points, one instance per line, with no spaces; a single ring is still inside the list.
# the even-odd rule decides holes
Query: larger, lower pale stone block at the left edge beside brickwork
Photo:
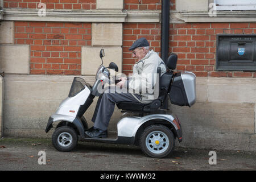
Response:
[[[0,46],[0,72],[30,73],[30,47],[29,45]]]

